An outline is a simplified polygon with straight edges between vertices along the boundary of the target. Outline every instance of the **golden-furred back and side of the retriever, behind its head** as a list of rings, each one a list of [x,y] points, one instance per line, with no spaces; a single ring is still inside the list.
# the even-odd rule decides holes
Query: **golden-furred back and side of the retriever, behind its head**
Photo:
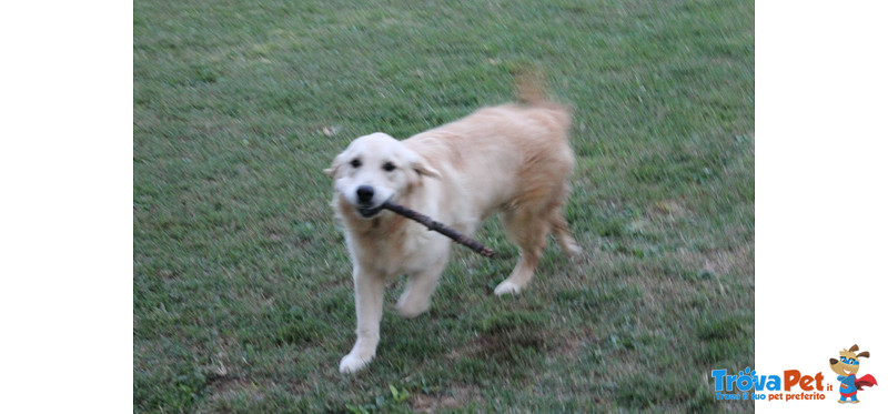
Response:
[[[574,166],[569,128],[569,112],[556,103],[511,103],[481,109],[404,143],[442,171],[454,193],[471,198],[460,209],[483,219],[497,208],[566,195]]]

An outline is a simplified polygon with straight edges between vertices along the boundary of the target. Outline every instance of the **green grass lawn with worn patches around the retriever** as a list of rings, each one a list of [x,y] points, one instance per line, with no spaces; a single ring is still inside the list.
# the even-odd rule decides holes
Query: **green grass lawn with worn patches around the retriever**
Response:
[[[709,371],[754,361],[754,2],[133,3],[138,413],[751,411]],[[513,98],[538,67],[575,110],[568,220],[531,287],[495,221],[428,314],[354,341],[321,172]]]

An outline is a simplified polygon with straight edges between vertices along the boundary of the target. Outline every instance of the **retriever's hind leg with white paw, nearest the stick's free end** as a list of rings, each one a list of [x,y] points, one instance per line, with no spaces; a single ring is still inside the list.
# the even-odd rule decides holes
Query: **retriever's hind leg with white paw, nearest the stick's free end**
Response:
[[[497,296],[517,294],[533,279],[543,248],[546,246],[546,235],[549,230],[549,221],[539,220],[539,215],[538,211],[529,208],[503,214],[503,224],[509,239],[521,249],[521,259],[512,274],[493,291]]]

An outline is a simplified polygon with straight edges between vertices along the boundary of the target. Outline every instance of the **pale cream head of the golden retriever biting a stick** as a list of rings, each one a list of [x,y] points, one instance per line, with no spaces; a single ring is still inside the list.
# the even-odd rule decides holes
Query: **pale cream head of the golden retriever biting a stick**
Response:
[[[384,202],[398,200],[422,176],[441,176],[403,142],[382,132],[352,141],[324,173],[364,219],[376,216]]]

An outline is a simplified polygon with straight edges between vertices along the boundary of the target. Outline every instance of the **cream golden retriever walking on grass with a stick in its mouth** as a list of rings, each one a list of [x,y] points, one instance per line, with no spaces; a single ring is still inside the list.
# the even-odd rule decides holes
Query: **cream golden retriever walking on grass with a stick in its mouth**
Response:
[[[428,310],[450,255],[450,239],[383,211],[385,201],[466,235],[498,212],[521,259],[496,295],[527,286],[549,232],[564,252],[581,252],[563,211],[574,168],[569,113],[541,89],[522,89],[524,103],[484,108],[407,140],[381,132],[357,138],[324,170],[335,181],[332,205],[354,265],[357,340],[340,372],[356,372],[375,356],[386,280],[406,275],[396,310],[417,316]]]

